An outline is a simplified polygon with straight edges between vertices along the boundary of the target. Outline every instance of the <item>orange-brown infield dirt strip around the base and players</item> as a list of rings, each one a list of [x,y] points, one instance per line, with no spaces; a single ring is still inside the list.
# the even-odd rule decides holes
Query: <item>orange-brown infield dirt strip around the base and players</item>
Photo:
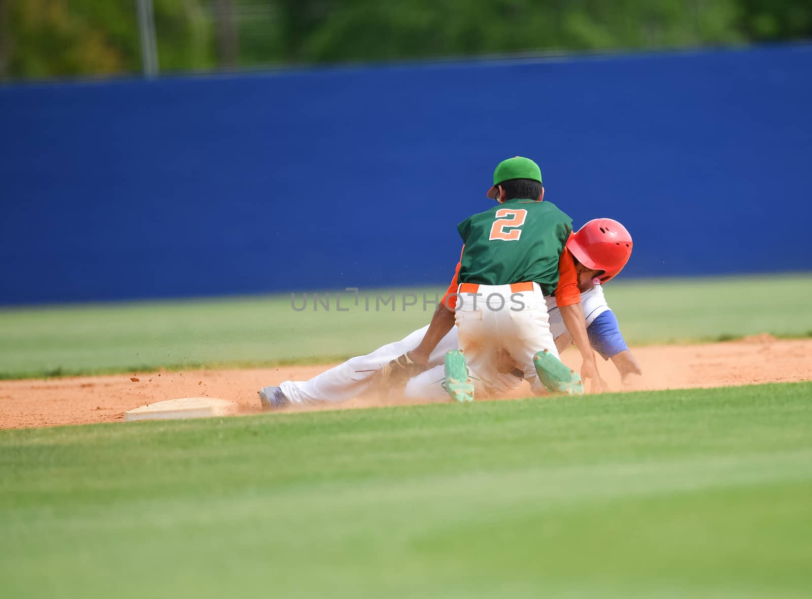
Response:
[[[624,389],[614,366],[599,361],[612,391],[723,387],[812,379],[812,340],[743,340],[697,345],[652,345],[633,350],[644,377]],[[574,349],[564,362],[577,368]],[[279,366],[244,370],[129,372],[93,377],[0,381],[0,428],[56,426],[123,420],[140,405],[176,397],[233,400],[242,413],[259,412],[257,390],[283,380],[306,380],[334,364]],[[523,385],[510,397],[529,395]],[[396,396],[361,396],[343,403],[305,409],[368,408],[414,403]]]

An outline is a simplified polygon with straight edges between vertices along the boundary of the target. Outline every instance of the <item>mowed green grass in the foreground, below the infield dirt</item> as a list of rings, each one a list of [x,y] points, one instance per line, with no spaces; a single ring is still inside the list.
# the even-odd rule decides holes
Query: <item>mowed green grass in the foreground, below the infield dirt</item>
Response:
[[[812,383],[0,431],[3,597],[808,597]]]

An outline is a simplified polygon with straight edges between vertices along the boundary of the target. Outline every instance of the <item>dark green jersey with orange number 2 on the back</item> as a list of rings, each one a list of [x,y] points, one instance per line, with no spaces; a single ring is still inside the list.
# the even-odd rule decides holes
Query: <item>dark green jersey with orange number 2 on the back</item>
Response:
[[[572,219],[554,203],[508,199],[463,220],[457,230],[465,244],[460,283],[535,281],[545,295],[555,293]]]

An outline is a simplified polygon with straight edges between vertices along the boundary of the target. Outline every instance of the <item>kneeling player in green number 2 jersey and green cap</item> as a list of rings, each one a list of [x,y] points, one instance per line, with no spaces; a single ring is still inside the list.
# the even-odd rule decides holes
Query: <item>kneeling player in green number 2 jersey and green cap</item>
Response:
[[[582,392],[581,378],[559,361],[550,332],[545,296],[555,294],[564,324],[583,357],[581,374],[598,381],[598,367],[586,333],[577,273],[565,248],[572,219],[543,200],[538,165],[521,156],[494,171],[488,197],[499,205],[458,225],[464,246],[456,293],[440,302],[417,348],[393,361],[394,370],[413,373],[456,323],[460,350],[447,353],[446,386],[456,400],[473,400],[475,387],[489,387],[497,363],[508,353],[533,392]],[[452,283],[453,285],[453,283]],[[451,300],[456,296],[456,305]]]

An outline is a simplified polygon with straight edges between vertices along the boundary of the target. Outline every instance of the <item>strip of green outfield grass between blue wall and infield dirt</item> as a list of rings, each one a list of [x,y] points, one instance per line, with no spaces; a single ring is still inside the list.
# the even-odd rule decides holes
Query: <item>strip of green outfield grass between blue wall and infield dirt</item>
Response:
[[[0,310],[0,378],[96,374],[159,366],[261,365],[325,362],[368,353],[427,324],[422,294],[395,293],[391,304],[369,311],[352,305],[297,312],[289,296],[206,301],[140,302]],[[403,310],[404,293],[417,306]],[[718,340],[770,332],[812,334],[812,276],[660,280],[607,285],[609,305],[630,344]],[[407,303],[410,300],[407,300]],[[301,306],[302,296],[296,296]]]

